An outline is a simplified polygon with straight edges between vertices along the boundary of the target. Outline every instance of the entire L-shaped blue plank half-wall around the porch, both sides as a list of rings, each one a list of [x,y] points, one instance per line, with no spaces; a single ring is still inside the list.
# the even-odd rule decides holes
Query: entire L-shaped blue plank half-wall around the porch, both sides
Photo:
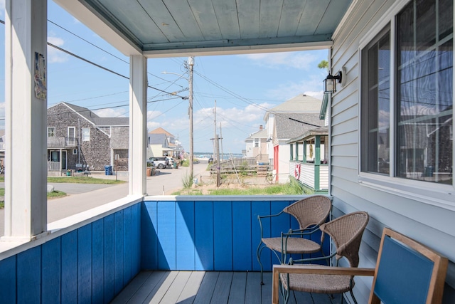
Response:
[[[1,303],[109,303],[141,270],[259,271],[257,215],[295,199],[254,197],[126,204],[0,253]],[[263,225],[264,236],[298,226],[287,215]],[[272,258],[264,250],[265,270]]]

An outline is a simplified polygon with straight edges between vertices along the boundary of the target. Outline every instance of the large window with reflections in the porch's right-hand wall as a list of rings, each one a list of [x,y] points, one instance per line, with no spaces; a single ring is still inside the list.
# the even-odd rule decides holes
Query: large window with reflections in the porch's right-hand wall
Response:
[[[412,0],[361,49],[361,172],[453,184],[453,10]]]

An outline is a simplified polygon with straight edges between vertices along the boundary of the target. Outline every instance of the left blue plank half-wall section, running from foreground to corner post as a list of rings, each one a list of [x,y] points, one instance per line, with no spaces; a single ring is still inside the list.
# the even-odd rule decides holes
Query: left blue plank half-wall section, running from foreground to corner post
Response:
[[[140,204],[0,261],[1,303],[109,303],[140,271]]]

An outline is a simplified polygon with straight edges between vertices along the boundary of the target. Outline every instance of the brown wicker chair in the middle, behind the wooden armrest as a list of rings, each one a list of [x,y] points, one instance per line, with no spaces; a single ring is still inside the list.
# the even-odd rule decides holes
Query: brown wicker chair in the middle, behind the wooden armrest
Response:
[[[369,216],[366,212],[358,211],[329,221],[320,226],[323,232],[321,242],[324,235],[331,236],[333,243],[336,246],[336,252],[332,253],[328,258],[333,256],[336,258],[336,266],[338,261],[343,256],[348,260],[350,267],[357,267],[359,258],[358,250],[362,241],[363,231],[368,224]],[[311,261],[317,258],[312,258]],[[296,262],[304,262],[296,261]],[[330,266],[326,266],[330,268]],[[282,295],[284,303],[289,299],[289,290],[304,291],[307,293],[343,293],[349,291],[353,297],[352,289],[354,287],[353,276],[328,276],[322,274],[301,274],[301,273],[280,273],[280,281],[282,283]]]

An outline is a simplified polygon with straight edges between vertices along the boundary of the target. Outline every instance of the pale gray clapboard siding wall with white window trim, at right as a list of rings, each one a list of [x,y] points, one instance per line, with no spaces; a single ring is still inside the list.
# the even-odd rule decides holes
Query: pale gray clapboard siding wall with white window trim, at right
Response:
[[[391,24],[395,16],[408,4],[406,0],[358,0],[348,11],[343,23],[333,36],[331,73],[346,68],[346,85],[337,86],[328,113],[331,130],[331,195],[333,217],[352,211],[367,211],[370,223],[360,246],[360,267],[374,267],[382,228],[389,226],[421,241],[450,260],[446,283],[449,295],[446,303],[455,303],[455,219],[454,195],[445,192],[438,196],[439,184],[398,179],[379,174],[365,174],[360,170],[360,50],[373,41],[380,31]],[[395,33],[391,31],[391,40]],[[395,58],[392,57],[392,62]],[[392,82],[395,75],[391,75]],[[394,96],[392,96],[394,98]],[[393,127],[393,126],[392,126]],[[391,155],[393,158],[393,155]],[[391,159],[393,161],[393,159]],[[371,177],[374,175],[374,178]],[[395,183],[387,182],[394,179]],[[434,196],[422,199],[414,192],[415,184],[422,183],[422,192],[433,189]],[[429,186],[427,185],[429,184]],[[444,185],[447,186],[447,185]],[[450,186],[449,186],[450,187]],[[443,187],[444,188],[444,187]],[[414,193],[413,193],[414,192]],[[444,192],[443,192],[444,193]],[[413,195],[412,195],[413,194]],[[343,264],[343,262],[342,262]],[[367,303],[370,278],[355,278],[358,303]],[[350,297],[350,295],[346,295]]]

